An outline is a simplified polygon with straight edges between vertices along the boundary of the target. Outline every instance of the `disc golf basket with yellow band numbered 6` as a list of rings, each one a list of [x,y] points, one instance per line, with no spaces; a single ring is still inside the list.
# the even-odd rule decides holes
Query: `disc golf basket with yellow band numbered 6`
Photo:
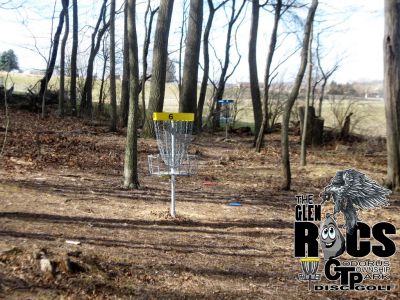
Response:
[[[151,175],[171,176],[170,214],[175,217],[176,176],[194,175],[198,169],[197,156],[187,153],[194,114],[154,113],[153,121],[160,154],[148,156],[149,171]]]

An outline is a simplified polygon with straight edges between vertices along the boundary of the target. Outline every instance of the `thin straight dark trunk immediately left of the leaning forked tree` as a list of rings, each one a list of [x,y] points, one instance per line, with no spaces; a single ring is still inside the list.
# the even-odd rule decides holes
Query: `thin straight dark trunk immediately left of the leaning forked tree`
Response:
[[[71,114],[76,116],[76,58],[78,54],[78,1],[72,0],[72,51],[71,51],[71,83],[70,83],[70,105]]]

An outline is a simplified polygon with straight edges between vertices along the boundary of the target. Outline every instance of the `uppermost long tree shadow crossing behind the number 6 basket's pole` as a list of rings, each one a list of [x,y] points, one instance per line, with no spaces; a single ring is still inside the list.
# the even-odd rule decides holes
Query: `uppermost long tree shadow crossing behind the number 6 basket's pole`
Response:
[[[4,179],[4,185],[17,186],[19,188],[33,189],[38,192],[51,193],[61,197],[87,197],[87,200],[96,200],[96,197],[113,197],[124,201],[146,200],[146,201],[170,201],[169,183],[164,187],[142,187],[139,190],[127,190],[118,186],[99,187],[78,186],[74,184],[37,181],[34,179],[12,180]],[[226,190],[226,187],[195,189],[178,188],[176,190],[180,202],[228,204],[232,201],[239,201],[249,205],[266,206],[275,208],[290,208],[293,205],[292,192],[286,191],[256,191],[243,190],[234,187]],[[85,200],[85,198],[79,198]],[[79,200],[78,199],[78,200]]]

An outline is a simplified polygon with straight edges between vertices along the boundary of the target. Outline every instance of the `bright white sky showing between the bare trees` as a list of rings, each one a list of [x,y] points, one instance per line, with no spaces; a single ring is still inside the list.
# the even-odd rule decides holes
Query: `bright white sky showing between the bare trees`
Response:
[[[20,0],[23,1],[23,0]],[[60,10],[60,0],[57,0],[56,16]],[[88,47],[91,28],[95,23],[101,1],[80,0],[79,17],[81,44],[79,52],[81,53],[81,64],[84,65],[84,52]],[[137,27],[139,35],[139,46],[143,39],[143,15],[146,7],[146,1],[138,0]],[[170,31],[169,51],[172,52],[171,58],[177,59],[179,45],[179,27],[181,25],[183,0],[175,0],[174,16]],[[207,7],[207,1],[205,7]],[[217,1],[214,1],[217,2]],[[239,1],[237,1],[239,2]],[[154,1],[157,3],[157,1]],[[122,4],[117,0],[117,8]],[[35,49],[35,39],[37,48],[44,55],[48,55],[48,44],[51,31],[51,16],[53,14],[54,1],[44,0],[25,0],[25,4],[18,10],[0,9],[0,51],[14,49],[19,64],[22,69],[43,69],[45,68],[44,59],[38,55]],[[246,14],[243,15],[243,22],[238,30],[237,40],[238,48],[242,55],[241,63],[232,77],[235,81],[248,81],[247,48],[250,26],[251,7],[248,5]],[[299,14],[304,17],[306,9]],[[72,14],[72,12],[71,12]],[[204,22],[208,17],[208,9],[204,11]],[[272,14],[266,11],[260,13],[260,27],[258,37],[258,66],[259,79],[262,81],[265,58],[267,55],[269,34],[271,30]],[[343,57],[340,69],[334,75],[333,79],[338,82],[359,81],[359,80],[382,80],[383,78],[383,1],[377,0],[320,0],[318,15],[316,19],[320,25],[316,27],[334,27],[330,32],[321,36],[323,40],[323,50],[325,58],[323,64],[329,68],[338,57]],[[72,20],[71,20],[72,21]],[[55,19],[54,27],[58,19]],[[118,48],[122,47],[122,14],[117,18],[117,39]],[[216,52],[223,56],[223,46],[226,32],[226,14],[223,10],[218,11],[214,19],[214,29],[212,31],[211,41],[214,44]],[[71,22],[72,23],[72,22]],[[286,31],[287,27],[281,26],[281,31]],[[154,30],[153,30],[154,33]],[[71,34],[71,32],[70,32]],[[70,35],[71,37],[71,35]],[[232,45],[232,61],[236,61],[237,54],[234,45]],[[295,36],[292,35],[285,40],[282,47],[275,56],[275,64],[278,60],[285,57],[286,53],[291,52],[296,47]],[[151,46],[152,48],[152,46]],[[32,50],[28,50],[32,49]],[[210,51],[212,52],[212,50]],[[141,50],[139,50],[141,53]],[[98,60],[99,61],[99,60]],[[151,56],[149,57],[151,63]],[[288,62],[282,66],[279,71],[279,78],[284,81],[290,81],[297,71],[299,55],[294,55]],[[218,75],[218,63],[213,59],[215,73]],[[214,76],[214,77],[215,77]],[[200,77],[199,77],[200,78]]]

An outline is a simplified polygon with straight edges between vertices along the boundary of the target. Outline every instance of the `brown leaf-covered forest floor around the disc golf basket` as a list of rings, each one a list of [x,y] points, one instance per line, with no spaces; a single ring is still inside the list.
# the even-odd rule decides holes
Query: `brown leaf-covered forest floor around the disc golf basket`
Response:
[[[382,140],[330,143],[310,150],[307,167],[299,167],[299,137],[291,136],[293,185],[282,191],[279,134],[267,135],[259,154],[251,136],[194,136],[199,172],[177,180],[173,219],[169,179],[148,173],[155,141],[139,139],[141,188],[127,190],[124,132],[83,119],[10,114],[0,157],[0,298],[399,299],[398,255],[389,258],[390,281],[375,282],[392,284],[390,292],[315,292],[297,280],[293,251],[295,195],[313,193],[319,202],[335,172],[347,168],[382,184]],[[362,219],[398,230],[400,195],[390,203]],[[331,210],[324,206],[323,215]],[[392,239],[398,248],[398,234]]]

